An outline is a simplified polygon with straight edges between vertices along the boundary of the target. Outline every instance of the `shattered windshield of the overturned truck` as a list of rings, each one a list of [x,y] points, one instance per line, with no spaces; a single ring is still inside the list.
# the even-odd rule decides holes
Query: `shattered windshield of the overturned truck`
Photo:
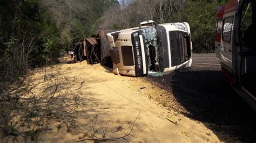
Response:
[[[158,33],[155,27],[147,28],[142,30],[145,37],[147,62],[149,71],[159,71],[159,45],[158,45]]]

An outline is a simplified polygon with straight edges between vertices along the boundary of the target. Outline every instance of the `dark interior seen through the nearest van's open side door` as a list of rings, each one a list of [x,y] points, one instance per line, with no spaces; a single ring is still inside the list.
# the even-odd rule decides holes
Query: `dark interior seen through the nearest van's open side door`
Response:
[[[240,20],[240,39],[241,39],[241,61],[240,67],[238,68],[240,73],[240,82],[244,89],[250,92],[254,101],[256,101],[256,49],[255,49],[255,38],[256,38],[256,2],[248,1],[244,2],[241,6],[241,20]],[[238,27],[239,28],[239,27]],[[237,28],[237,29],[238,29]],[[238,33],[238,34],[239,34]]]

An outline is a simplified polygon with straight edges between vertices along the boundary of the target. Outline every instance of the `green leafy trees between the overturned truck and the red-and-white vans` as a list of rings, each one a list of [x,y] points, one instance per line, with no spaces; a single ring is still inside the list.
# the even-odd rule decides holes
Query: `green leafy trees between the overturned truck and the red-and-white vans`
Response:
[[[190,1],[181,11],[181,18],[178,13],[173,13],[173,22],[190,24],[193,52],[214,52],[217,6],[217,2]]]

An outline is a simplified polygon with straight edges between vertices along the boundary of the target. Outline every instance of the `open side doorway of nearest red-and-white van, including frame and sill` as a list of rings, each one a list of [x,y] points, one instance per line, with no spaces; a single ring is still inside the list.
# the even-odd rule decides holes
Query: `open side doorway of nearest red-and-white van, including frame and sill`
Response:
[[[234,20],[234,88],[256,111],[256,1],[239,1]]]

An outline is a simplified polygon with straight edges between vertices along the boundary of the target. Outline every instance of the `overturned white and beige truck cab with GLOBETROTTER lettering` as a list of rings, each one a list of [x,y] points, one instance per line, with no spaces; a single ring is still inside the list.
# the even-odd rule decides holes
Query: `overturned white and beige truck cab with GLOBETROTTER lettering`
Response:
[[[154,26],[143,26],[154,24]],[[188,23],[157,25],[152,20],[139,27],[107,33],[113,73],[146,76],[155,71],[191,67],[192,42]]]

